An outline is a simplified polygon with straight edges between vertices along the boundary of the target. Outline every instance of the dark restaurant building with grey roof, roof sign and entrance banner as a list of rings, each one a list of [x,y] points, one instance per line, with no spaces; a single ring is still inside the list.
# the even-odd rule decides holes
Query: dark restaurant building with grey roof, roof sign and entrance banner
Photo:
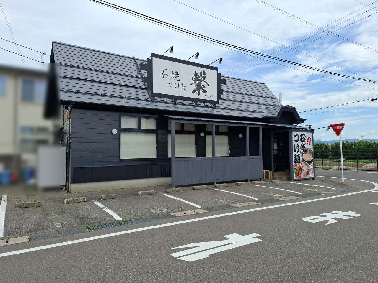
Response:
[[[263,170],[314,177],[311,126],[264,83],[60,42],[50,63],[59,63],[69,192],[249,181]]]

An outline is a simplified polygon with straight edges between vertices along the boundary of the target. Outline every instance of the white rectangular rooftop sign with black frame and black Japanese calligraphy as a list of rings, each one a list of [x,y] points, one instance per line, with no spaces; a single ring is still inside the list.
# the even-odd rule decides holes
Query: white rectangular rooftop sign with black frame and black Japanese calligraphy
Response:
[[[218,104],[226,84],[217,67],[160,54],[152,53],[140,67],[147,71],[144,80],[153,97]]]

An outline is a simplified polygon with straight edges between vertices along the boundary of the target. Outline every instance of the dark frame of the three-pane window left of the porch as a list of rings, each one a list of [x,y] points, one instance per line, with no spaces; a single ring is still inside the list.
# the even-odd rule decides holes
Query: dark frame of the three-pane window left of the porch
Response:
[[[138,128],[122,128],[122,117],[136,117],[138,118]],[[154,118],[156,129],[141,129],[141,118]],[[121,158],[121,132],[139,132],[139,133],[155,133],[155,143],[156,143],[156,157],[149,158]],[[119,161],[135,161],[135,160],[158,160],[159,154],[159,144],[158,144],[158,115],[148,115],[148,114],[119,114]]]

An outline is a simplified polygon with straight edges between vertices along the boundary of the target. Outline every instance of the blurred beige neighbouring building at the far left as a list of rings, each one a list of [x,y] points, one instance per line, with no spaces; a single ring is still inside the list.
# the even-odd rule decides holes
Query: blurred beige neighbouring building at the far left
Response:
[[[43,118],[47,71],[0,65],[0,171],[36,168],[37,147],[53,141]]]

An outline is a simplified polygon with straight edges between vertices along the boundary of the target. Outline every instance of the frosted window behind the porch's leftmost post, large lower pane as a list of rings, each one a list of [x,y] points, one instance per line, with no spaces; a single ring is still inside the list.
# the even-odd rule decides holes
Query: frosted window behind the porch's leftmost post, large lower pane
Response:
[[[168,134],[168,157],[172,157],[171,134]],[[175,134],[175,157],[196,157],[195,135]]]

